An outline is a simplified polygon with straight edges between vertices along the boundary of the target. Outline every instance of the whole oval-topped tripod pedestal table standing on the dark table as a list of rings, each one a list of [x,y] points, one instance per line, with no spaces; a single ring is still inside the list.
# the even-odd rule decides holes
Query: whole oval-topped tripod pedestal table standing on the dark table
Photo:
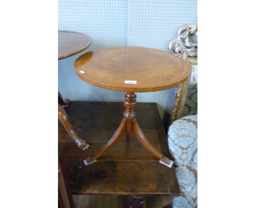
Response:
[[[106,145],[86,158],[86,165],[110,150],[124,133],[133,133],[160,163],[172,166],[173,161],[156,150],[141,131],[134,111],[135,93],[164,90],[183,83],[189,76],[189,66],[184,60],[152,48],[110,47],[80,56],[75,61],[75,71],[81,79],[92,85],[126,92],[121,124]]]

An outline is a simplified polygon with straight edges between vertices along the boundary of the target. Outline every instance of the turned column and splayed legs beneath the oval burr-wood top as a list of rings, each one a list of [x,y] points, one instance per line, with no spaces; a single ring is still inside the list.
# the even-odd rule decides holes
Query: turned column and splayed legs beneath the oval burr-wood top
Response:
[[[169,158],[162,155],[158,150],[152,146],[144,136],[141,128],[138,125],[138,121],[136,118],[136,114],[134,111],[136,105],[136,94],[128,92],[125,94],[125,112],[123,114],[123,119],[121,120],[121,124],[119,125],[117,131],[113,134],[112,138],[110,138],[106,145],[104,145],[100,150],[95,152],[94,155],[89,156],[84,160],[84,164],[88,165],[92,162],[96,162],[97,158],[101,157],[107,151],[109,151],[118,141],[124,136],[124,133],[133,133],[138,142],[150,152],[150,154],[154,155],[159,159],[159,162],[165,164],[167,167],[172,167],[173,161]]]

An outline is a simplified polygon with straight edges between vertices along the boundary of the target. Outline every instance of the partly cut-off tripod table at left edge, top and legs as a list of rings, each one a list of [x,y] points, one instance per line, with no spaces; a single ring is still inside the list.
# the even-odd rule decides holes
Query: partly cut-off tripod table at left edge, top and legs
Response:
[[[91,45],[91,38],[83,33],[72,31],[58,31],[58,60],[73,56],[86,50]],[[80,139],[75,133],[68,115],[63,107],[67,107],[70,103],[69,99],[63,100],[61,94],[58,92],[58,119],[68,132],[69,136],[74,140],[75,144],[83,150],[87,149],[89,145],[85,140]]]

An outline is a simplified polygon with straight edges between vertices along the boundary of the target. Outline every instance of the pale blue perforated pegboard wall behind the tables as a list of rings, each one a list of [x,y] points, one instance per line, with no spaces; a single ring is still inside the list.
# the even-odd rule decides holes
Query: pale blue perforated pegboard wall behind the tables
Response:
[[[197,24],[196,0],[60,0],[59,29],[88,34],[87,51],[109,46],[143,46],[168,51],[179,27]],[[63,98],[123,101],[124,93],[94,87],[75,75],[73,57],[59,60],[59,91]],[[163,120],[168,117],[174,89],[137,93],[138,102],[156,102]]]

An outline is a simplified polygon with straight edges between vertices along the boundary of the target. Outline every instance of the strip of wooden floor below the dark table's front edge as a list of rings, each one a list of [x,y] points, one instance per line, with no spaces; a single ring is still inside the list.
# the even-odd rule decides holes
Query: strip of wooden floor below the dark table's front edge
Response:
[[[124,208],[125,198],[115,195],[73,195],[75,208]],[[162,208],[171,196],[146,197],[144,208]]]

